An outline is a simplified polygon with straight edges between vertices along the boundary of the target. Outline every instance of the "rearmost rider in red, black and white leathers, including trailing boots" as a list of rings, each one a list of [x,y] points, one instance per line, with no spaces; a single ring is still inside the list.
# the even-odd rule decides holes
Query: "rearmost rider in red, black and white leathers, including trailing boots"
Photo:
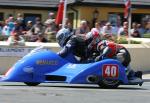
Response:
[[[104,58],[117,59],[122,63],[123,66],[127,68],[126,74],[130,82],[142,81],[142,72],[134,72],[133,70],[131,70],[131,56],[124,46],[116,44],[112,41],[103,40],[98,43],[97,51],[100,52],[100,55],[96,57],[95,61],[99,61]]]

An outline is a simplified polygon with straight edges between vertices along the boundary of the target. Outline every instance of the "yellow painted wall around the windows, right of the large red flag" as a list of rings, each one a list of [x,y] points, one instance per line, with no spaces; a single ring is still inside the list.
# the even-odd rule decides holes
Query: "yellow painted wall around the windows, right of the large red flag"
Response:
[[[117,8],[117,7],[115,8],[115,7],[93,7],[93,6],[82,6],[81,7],[81,6],[78,6],[78,7],[74,7],[74,8],[79,11],[78,26],[80,25],[80,20],[82,20],[82,19],[92,21],[92,19],[93,19],[92,13],[94,12],[95,9],[97,9],[99,12],[98,21],[108,20],[108,14],[110,12],[124,13],[124,8]],[[134,8],[134,9],[132,9],[132,13],[150,14],[150,9]]]

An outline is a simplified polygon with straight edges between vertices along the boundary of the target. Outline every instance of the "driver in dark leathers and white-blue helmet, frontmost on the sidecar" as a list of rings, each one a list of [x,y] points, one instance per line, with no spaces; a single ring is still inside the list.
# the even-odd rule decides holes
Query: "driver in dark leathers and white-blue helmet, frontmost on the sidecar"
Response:
[[[62,47],[58,55],[65,58],[69,53],[79,57],[80,62],[87,59],[87,42],[84,35],[74,35],[68,28],[62,28],[56,34],[56,40]]]

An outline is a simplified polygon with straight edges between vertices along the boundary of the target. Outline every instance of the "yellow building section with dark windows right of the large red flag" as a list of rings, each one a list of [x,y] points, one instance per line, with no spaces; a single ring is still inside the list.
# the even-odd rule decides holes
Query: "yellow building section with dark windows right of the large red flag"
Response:
[[[69,0],[68,0],[69,1]],[[72,20],[74,27],[80,25],[82,19],[86,19],[93,26],[96,21],[110,21],[113,25],[119,19],[124,19],[123,0],[76,0],[70,1],[68,5],[68,17]],[[132,22],[140,23],[143,18],[150,18],[149,0],[131,0]]]

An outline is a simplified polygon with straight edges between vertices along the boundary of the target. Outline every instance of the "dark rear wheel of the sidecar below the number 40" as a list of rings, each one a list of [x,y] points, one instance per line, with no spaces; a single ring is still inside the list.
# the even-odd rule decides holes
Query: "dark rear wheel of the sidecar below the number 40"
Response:
[[[115,89],[120,85],[120,81],[103,79],[98,83],[98,85],[100,88]]]

